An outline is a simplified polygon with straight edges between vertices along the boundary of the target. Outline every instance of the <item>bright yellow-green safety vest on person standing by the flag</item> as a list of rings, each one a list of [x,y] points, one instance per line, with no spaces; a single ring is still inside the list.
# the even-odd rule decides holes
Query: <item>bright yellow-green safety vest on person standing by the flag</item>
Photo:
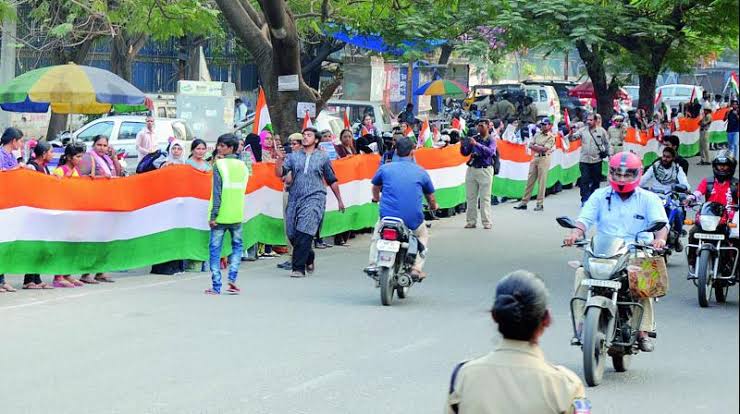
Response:
[[[249,170],[243,161],[224,158],[216,161],[216,169],[221,174],[221,207],[216,223],[236,224],[244,222],[244,194],[249,181]],[[208,206],[208,217],[213,208],[213,192]]]

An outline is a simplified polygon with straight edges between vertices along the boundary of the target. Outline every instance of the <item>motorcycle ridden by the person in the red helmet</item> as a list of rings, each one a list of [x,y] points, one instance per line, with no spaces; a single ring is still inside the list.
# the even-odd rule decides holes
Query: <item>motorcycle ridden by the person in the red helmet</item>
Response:
[[[558,217],[556,221],[561,227],[576,228],[575,221],[569,217]],[[652,233],[665,225],[654,222],[640,233]],[[629,290],[628,267],[634,252],[640,250],[651,255],[655,249],[638,243],[637,237],[634,243],[625,243],[622,238],[600,234],[575,245],[584,250],[583,264],[569,264],[575,268],[583,266],[586,277],[581,285],[588,287],[588,295],[586,298],[575,296],[570,301],[574,333],[571,344],[581,346],[586,383],[596,386],[603,378],[607,355],[617,372],[625,372],[632,356],[639,353],[639,331],[634,327],[640,326],[644,309]],[[578,301],[585,302],[580,338],[574,311]],[[655,333],[650,336],[654,338]]]

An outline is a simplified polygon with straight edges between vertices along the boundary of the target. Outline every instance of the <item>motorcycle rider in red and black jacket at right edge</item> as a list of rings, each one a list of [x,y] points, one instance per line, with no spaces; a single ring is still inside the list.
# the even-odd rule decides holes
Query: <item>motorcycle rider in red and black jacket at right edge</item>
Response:
[[[735,178],[735,169],[737,168],[737,161],[733,157],[729,150],[721,151],[712,160],[712,173],[713,176],[701,180],[699,186],[696,187],[694,194],[690,195],[687,199],[687,203],[690,202],[715,202],[722,204],[725,207],[737,206],[738,203],[738,180]],[[727,219],[732,220],[737,212],[730,207],[730,211]],[[689,230],[689,244],[696,245],[696,237],[694,236],[697,232],[701,232],[701,227],[698,224]],[[693,266],[696,263],[696,249],[689,248],[687,252],[690,273],[694,273]]]

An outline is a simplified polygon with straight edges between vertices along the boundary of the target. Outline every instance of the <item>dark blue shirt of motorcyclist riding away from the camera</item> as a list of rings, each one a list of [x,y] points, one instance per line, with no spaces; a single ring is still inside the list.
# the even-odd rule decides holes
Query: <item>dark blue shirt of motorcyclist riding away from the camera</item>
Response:
[[[434,193],[429,174],[411,157],[398,157],[390,164],[383,164],[372,180],[382,187],[380,217],[398,217],[412,230],[424,223],[422,201],[424,194]]]

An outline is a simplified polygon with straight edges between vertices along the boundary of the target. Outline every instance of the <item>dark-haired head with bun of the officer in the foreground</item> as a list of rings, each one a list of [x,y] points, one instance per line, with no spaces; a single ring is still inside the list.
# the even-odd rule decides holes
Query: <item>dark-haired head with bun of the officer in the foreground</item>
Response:
[[[509,273],[496,285],[491,314],[506,339],[530,341],[547,315],[545,282],[526,270]]]

